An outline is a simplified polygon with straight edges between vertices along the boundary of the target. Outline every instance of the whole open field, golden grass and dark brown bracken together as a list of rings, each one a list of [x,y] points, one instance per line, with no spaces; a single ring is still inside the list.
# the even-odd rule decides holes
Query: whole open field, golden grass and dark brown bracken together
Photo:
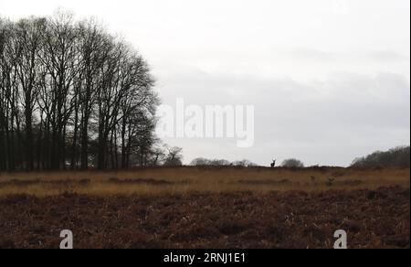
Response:
[[[409,169],[0,174],[0,248],[410,248]]]

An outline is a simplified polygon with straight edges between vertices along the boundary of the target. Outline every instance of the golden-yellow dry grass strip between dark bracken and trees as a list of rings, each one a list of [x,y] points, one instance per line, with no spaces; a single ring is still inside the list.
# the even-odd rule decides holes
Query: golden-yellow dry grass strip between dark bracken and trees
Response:
[[[47,197],[64,193],[97,196],[187,194],[227,191],[324,191],[410,185],[409,169],[344,168],[153,168],[121,172],[0,174],[0,196]]]

